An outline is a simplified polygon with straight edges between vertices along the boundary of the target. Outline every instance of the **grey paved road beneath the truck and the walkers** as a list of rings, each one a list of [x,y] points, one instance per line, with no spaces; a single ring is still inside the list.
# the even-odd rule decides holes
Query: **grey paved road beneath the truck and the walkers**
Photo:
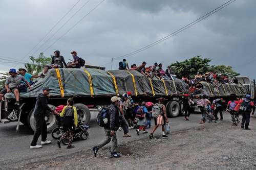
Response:
[[[74,141],[75,148],[67,150],[65,147],[57,148],[56,140],[53,140],[51,135],[48,134],[48,139],[52,140],[53,144],[46,145],[38,150],[30,150],[29,145],[33,138],[33,131],[25,125],[20,126],[20,132],[16,132],[16,123],[0,124],[0,169],[4,165],[17,167],[20,164],[28,163],[31,161],[38,161],[43,159],[55,158],[61,155],[67,155],[73,152],[79,152],[91,149],[93,145],[103,139],[103,129],[96,124],[97,112],[92,112],[92,119],[89,129],[89,138],[87,140]],[[173,131],[186,130],[194,127],[202,126],[198,124],[200,114],[191,114],[190,121],[184,121],[183,117],[169,118],[172,124]],[[229,114],[224,113],[224,121],[229,122]],[[154,124],[154,121],[152,122]],[[207,126],[208,123],[206,123]],[[148,130],[150,131],[150,130]],[[148,137],[148,135],[136,135],[135,130],[131,130],[131,138],[123,138],[122,131],[118,131],[119,142],[130,142],[139,138]],[[156,135],[161,134],[160,128],[156,131]],[[40,140],[39,140],[40,141]],[[3,165],[3,166],[1,166]]]

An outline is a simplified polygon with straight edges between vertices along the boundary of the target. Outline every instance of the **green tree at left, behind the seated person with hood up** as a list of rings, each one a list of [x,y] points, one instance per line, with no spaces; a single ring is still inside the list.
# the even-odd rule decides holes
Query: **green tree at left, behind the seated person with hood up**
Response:
[[[35,58],[33,56],[30,56],[29,59],[32,63],[25,64],[25,67],[30,74],[38,75],[44,67],[51,63],[52,58],[51,57],[45,57],[44,53],[40,53],[38,58]]]

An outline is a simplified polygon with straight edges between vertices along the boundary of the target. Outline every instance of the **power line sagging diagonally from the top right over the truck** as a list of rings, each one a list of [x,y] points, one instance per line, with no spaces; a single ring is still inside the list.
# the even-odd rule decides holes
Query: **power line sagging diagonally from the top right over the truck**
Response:
[[[141,48],[139,48],[138,50],[135,50],[135,51],[133,51],[133,52],[131,52],[131,53],[128,53],[128,54],[125,54],[125,55],[122,55],[122,56],[115,57],[114,60],[115,60],[115,59],[119,59],[119,58],[123,58],[123,57],[127,58],[127,57],[130,57],[130,56],[133,56],[133,55],[135,55],[135,54],[137,54],[137,53],[140,53],[140,52],[146,50],[147,48],[150,48],[150,47],[152,47],[152,46],[155,46],[155,45],[157,45],[158,43],[160,43],[160,42],[162,42],[162,41],[165,41],[166,39],[168,39],[168,38],[170,38],[170,37],[173,37],[173,36],[177,35],[178,33],[180,33],[180,32],[182,32],[182,31],[184,31],[184,30],[186,30],[186,29],[188,29],[188,28],[194,26],[196,23],[198,23],[198,22],[204,20],[205,18],[207,18],[207,17],[213,15],[214,13],[218,12],[219,10],[225,8],[226,6],[228,6],[229,4],[231,4],[231,3],[235,2],[235,1],[236,1],[236,0],[229,0],[229,1],[227,1],[226,3],[222,4],[221,6],[219,6],[218,8],[216,8],[216,9],[214,9],[214,10],[211,10],[211,11],[208,12],[207,14],[201,16],[200,18],[196,19],[196,20],[193,21],[193,22],[190,22],[188,25],[186,25],[186,26],[184,26],[184,27],[182,27],[182,28],[176,30],[175,32],[173,32],[173,33],[171,33],[171,34],[169,34],[169,35],[167,35],[167,36],[165,36],[165,37],[163,37],[163,38],[161,38],[161,39],[159,39],[159,40],[157,40],[157,41],[155,41],[155,42],[153,42],[153,43],[151,43],[151,44],[148,44],[148,45],[146,45],[146,46],[144,46],[144,47],[141,47]],[[106,64],[109,64],[109,63],[106,63]],[[105,65],[105,64],[103,64],[103,65]],[[103,65],[102,65],[102,66],[103,66]]]

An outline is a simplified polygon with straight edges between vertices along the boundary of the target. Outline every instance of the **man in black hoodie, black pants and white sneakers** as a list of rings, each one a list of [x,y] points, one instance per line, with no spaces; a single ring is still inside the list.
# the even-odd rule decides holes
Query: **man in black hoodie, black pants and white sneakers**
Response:
[[[42,148],[42,145],[44,144],[50,144],[51,140],[46,140],[47,138],[47,125],[45,120],[46,111],[53,111],[48,106],[48,100],[49,100],[49,87],[44,87],[42,89],[42,93],[39,94],[36,98],[36,104],[34,109],[34,117],[36,120],[36,129],[34,133],[33,140],[30,144],[30,149],[38,149]],[[37,144],[38,137],[41,134],[41,145]]]

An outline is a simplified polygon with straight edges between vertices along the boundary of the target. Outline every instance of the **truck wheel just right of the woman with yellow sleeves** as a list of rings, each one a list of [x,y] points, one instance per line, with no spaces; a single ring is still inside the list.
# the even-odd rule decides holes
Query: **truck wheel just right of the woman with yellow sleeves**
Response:
[[[84,121],[84,124],[89,125],[91,119],[91,111],[81,103],[74,104],[77,110],[77,118]]]

